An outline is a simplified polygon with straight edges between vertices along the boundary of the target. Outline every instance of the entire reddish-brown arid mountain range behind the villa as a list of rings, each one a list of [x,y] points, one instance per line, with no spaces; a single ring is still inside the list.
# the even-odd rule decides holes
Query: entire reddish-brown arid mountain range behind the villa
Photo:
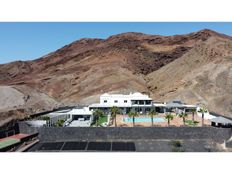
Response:
[[[0,65],[0,85],[8,89],[0,102],[14,101],[2,111],[32,112],[95,102],[104,92],[140,91],[156,101],[202,103],[232,117],[232,38],[201,30],[81,39],[37,60]]]

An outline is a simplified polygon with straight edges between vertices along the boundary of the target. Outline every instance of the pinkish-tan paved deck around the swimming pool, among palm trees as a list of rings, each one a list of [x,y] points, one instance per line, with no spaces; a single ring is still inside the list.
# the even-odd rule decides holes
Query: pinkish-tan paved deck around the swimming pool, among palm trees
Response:
[[[124,117],[128,117],[128,115],[117,115],[117,126],[119,127],[133,127],[133,122],[129,123],[129,122],[124,122],[123,121],[123,118]],[[147,115],[140,115],[139,117],[146,117],[146,118],[151,118]],[[154,118],[164,118],[165,119],[165,114],[158,114],[158,115],[155,115]],[[192,120],[192,114],[189,114],[188,117],[186,118],[186,120]],[[201,122],[201,118],[199,116],[197,116],[195,114],[194,116],[194,120],[195,121],[198,121],[198,127],[202,125],[202,122]],[[211,122],[207,119],[204,120],[204,125],[210,125]],[[162,127],[166,127],[168,126],[168,121],[165,120],[165,122],[154,122],[153,124],[154,126],[162,126]],[[115,126],[115,123],[113,122],[113,125],[111,125],[111,127],[114,127]],[[140,127],[149,127],[151,126],[151,122],[135,122],[135,126],[140,126]],[[173,120],[170,121],[170,126],[177,126],[177,127],[180,127],[180,126],[183,126],[183,119],[182,118],[179,118],[178,116],[174,116]],[[186,124],[187,126],[187,124]]]

